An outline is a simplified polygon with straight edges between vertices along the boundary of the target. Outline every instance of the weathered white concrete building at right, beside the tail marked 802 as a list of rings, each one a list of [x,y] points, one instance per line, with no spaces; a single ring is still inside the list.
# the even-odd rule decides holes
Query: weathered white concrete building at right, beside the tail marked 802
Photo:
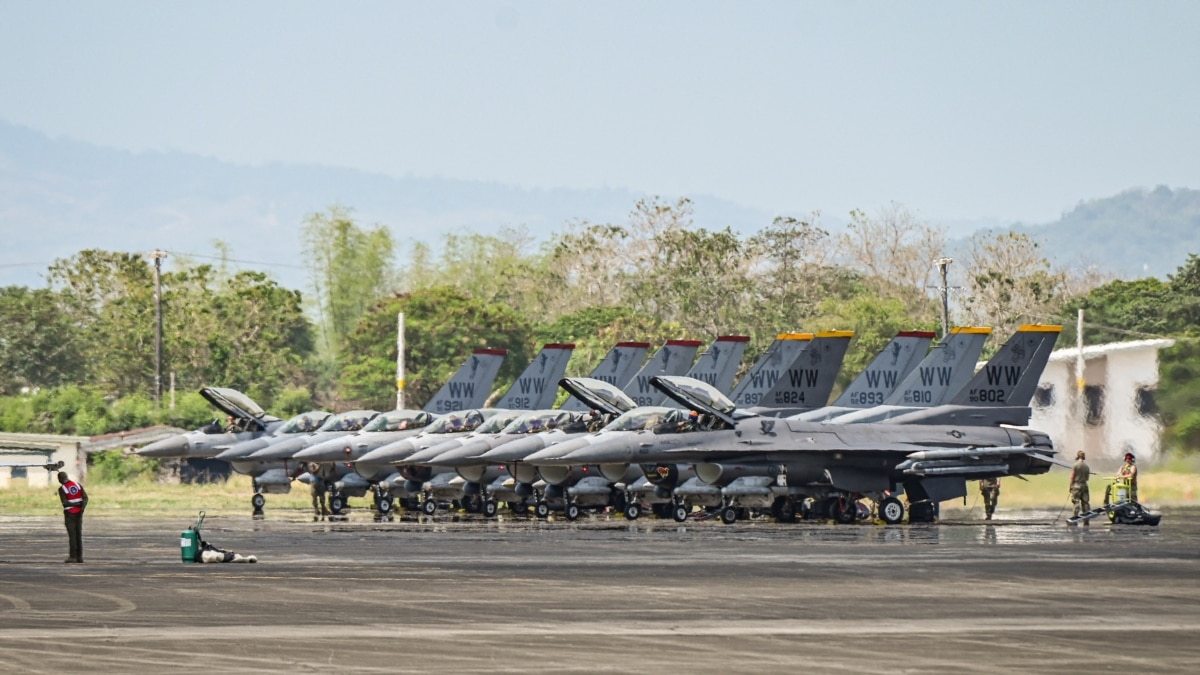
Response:
[[[1153,460],[1162,425],[1154,395],[1158,351],[1174,340],[1138,340],[1058,350],[1033,398],[1030,426],[1054,438],[1058,456],[1072,461],[1084,450],[1088,460],[1117,462],[1126,452]]]

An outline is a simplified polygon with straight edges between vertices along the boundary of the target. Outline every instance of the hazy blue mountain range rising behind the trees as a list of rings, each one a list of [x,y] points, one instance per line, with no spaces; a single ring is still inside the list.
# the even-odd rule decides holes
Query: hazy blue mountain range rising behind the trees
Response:
[[[320,166],[236,166],[184,153],[98,148],[0,121],[0,286],[42,286],[54,259],[83,249],[215,256],[214,241],[221,240],[242,267],[304,288],[300,223],[335,203],[353,208],[362,223],[391,227],[403,255],[412,241],[437,245],[449,232],[496,233],[523,225],[544,240],[574,220],[624,222],[642,196],[616,189],[396,179]],[[750,233],[780,215],[710,196],[689,197],[696,223],[707,228]],[[827,228],[842,222],[830,214],[821,219]],[[954,237],[1009,226],[942,225]],[[1130,190],[1080,203],[1054,223],[1015,227],[1042,240],[1046,256],[1063,264],[1096,264],[1124,277],[1165,276],[1188,252],[1200,252],[1200,192]]]

